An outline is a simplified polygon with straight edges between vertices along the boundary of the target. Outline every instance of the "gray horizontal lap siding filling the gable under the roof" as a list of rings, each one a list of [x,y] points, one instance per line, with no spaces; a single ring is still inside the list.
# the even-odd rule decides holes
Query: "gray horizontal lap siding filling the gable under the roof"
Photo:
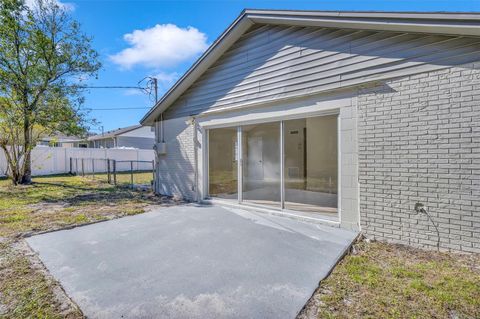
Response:
[[[257,25],[165,116],[304,96],[478,60],[478,38]]]

